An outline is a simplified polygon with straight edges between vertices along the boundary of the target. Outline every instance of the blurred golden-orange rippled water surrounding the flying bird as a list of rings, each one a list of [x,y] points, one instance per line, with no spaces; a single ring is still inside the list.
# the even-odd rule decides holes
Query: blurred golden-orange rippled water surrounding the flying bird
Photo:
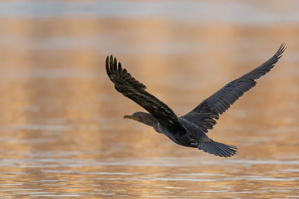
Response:
[[[299,1],[0,1],[0,198],[298,198]],[[183,115],[288,49],[220,116],[220,158],[125,114],[144,111],[107,55]]]

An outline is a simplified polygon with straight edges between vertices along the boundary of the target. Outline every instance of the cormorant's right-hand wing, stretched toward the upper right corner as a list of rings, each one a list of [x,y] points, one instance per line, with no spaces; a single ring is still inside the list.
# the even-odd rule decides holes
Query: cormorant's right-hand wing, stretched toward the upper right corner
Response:
[[[254,80],[259,79],[268,73],[282,57],[286,44],[283,43],[273,57],[256,69],[243,75],[242,77],[228,83],[215,94],[202,101],[189,113],[181,118],[192,121],[202,127],[207,133],[216,124],[215,119],[219,114],[225,112],[236,100],[256,85]]]

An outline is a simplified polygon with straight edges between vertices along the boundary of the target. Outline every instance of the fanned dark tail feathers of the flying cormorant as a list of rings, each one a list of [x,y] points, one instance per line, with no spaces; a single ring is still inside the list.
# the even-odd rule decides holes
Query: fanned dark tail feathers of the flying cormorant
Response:
[[[198,149],[203,150],[206,153],[213,154],[220,157],[231,157],[237,153],[238,148],[236,146],[222,144],[210,140],[208,142],[199,142]]]

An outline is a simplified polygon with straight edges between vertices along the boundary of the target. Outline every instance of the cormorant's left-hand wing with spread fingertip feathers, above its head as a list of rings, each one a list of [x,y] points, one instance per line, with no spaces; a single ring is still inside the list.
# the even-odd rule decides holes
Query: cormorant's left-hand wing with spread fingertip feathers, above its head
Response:
[[[177,132],[174,133],[186,133],[186,129],[173,110],[145,91],[147,87],[132,77],[126,69],[123,69],[121,63],[117,65],[117,60],[116,58],[113,60],[112,55],[110,60],[109,56],[106,59],[106,71],[110,80],[114,83],[115,89],[146,109],[161,126],[166,124],[168,127],[177,129]]]

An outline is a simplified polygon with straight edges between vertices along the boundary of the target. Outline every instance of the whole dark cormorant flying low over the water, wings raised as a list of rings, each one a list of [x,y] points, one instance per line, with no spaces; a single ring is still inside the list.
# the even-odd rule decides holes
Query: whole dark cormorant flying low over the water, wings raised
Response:
[[[285,51],[283,43],[273,57],[256,69],[228,83],[215,94],[203,100],[187,114],[178,117],[165,103],[146,91],[146,86],[137,81],[112,55],[106,59],[106,71],[115,89],[135,101],[147,112],[135,112],[124,118],[133,119],[154,128],[176,144],[198,148],[204,152],[231,157],[237,153],[236,146],[222,144],[210,139],[206,133],[216,124],[219,114],[225,112],[245,92],[256,85],[255,80],[268,73]]]

